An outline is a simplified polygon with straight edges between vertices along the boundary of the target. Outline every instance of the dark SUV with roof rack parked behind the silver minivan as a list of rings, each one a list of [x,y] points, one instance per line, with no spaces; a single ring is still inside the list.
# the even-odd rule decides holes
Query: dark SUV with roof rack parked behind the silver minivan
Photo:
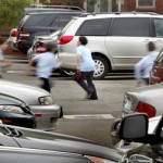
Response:
[[[17,49],[23,53],[27,53],[35,36],[50,35],[64,27],[73,16],[78,16],[82,13],[85,12],[68,9],[27,13],[17,27]]]

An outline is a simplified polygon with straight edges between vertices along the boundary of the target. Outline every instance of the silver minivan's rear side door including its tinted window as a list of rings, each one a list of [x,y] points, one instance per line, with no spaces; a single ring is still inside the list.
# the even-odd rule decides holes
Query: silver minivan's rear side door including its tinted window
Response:
[[[147,54],[150,36],[149,17],[115,17],[105,39],[114,70],[133,70]]]

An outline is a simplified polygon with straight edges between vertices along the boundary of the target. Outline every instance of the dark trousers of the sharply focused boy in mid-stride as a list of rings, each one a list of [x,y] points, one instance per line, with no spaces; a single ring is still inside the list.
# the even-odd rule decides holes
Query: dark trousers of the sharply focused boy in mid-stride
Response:
[[[87,91],[87,93],[91,93],[93,98],[97,98],[97,90],[92,83],[93,72],[80,72],[82,76],[79,80],[77,80],[78,85]],[[87,83],[85,82],[87,80]]]

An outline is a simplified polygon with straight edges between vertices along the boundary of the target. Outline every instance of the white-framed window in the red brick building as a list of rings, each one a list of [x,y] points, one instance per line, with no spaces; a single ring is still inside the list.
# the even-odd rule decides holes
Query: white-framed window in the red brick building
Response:
[[[137,8],[155,8],[155,0],[137,0]]]

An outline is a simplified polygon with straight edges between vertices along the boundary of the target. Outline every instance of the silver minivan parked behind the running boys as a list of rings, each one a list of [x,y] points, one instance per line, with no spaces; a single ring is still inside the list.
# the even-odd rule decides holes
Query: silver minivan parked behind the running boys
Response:
[[[108,72],[133,70],[147,54],[147,43],[163,47],[163,15],[155,13],[86,14],[74,17],[60,33],[62,68],[76,68],[76,42],[88,38],[88,48],[96,63],[95,78]]]

